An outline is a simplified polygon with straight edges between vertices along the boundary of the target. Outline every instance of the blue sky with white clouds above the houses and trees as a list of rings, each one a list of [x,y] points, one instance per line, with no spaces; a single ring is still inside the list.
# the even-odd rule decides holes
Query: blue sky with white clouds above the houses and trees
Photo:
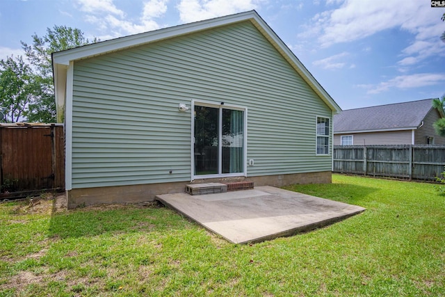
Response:
[[[2,0],[0,59],[54,25],[108,40],[252,9],[341,109],[445,94],[445,8],[430,0]]]

